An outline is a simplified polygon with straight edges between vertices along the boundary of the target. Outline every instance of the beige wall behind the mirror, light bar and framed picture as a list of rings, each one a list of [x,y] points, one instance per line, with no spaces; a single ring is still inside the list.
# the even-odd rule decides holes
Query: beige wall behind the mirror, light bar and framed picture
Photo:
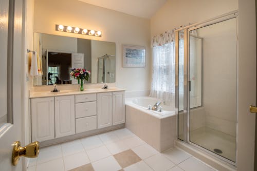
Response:
[[[150,20],[68,0],[35,0],[34,11],[35,32],[115,42],[116,86],[129,91],[150,89]],[[103,34],[95,37],[55,31],[56,24],[101,30]],[[145,46],[146,67],[122,68],[122,44]]]

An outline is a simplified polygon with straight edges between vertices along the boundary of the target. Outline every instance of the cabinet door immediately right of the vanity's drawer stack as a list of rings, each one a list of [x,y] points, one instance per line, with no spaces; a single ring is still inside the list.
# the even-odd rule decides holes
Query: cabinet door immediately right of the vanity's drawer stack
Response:
[[[97,93],[97,128],[112,125],[112,92]]]

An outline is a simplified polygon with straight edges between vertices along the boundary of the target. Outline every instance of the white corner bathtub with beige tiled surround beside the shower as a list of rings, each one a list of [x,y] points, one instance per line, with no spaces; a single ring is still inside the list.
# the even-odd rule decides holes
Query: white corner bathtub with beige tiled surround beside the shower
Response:
[[[161,101],[162,111],[148,109]],[[174,105],[150,97],[126,98],[125,127],[158,151],[174,147],[177,139],[177,114]]]

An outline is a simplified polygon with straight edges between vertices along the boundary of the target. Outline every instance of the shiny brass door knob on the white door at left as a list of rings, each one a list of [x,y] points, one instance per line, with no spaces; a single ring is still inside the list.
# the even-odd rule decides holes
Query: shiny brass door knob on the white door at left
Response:
[[[39,155],[39,142],[35,141],[32,142],[25,147],[21,147],[21,142],[16,141],[13,143],[13,150],[12,150],[12,164],[15,166],[19,160],[20,157],[29,157],[34,158],[38,157]]]

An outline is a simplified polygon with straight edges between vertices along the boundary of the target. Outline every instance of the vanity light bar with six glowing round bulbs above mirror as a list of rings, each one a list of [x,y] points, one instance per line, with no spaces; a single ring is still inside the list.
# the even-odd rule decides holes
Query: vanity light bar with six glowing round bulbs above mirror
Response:
[[[102,36],[101,31],[87,30],[87,29],[82,29],[79,27],[63,26],[63,25],[58,25],[58,24],[56,25],[56,31],[64,31],[64,32],[84,34],[84,35],[93,35],[93,36],[97,36],[97,37]]]

